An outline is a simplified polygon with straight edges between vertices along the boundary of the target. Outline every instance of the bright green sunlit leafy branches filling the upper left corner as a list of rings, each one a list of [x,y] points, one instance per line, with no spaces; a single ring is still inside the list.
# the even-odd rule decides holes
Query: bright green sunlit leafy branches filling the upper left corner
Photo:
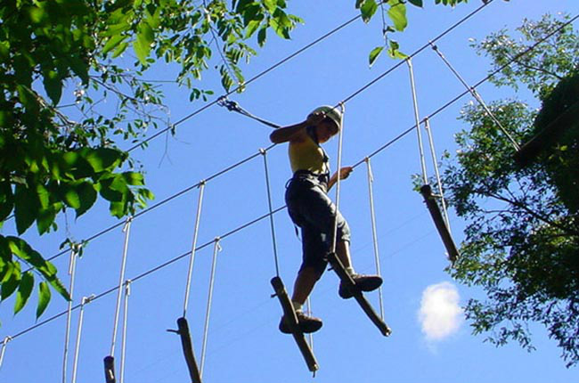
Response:
[[[161,60],[176,63],[175,81],[191,100],[206,99],[212,92],[196,81],[216,65],[224,89],[241,91],[241,62],[256,54],[250,40],[264,45],[267,30],[290,38],[301,22],[285,8],[284,0],[3,1],[0,222],[13,216],[18,235],[34,224],[42,235],[57,229],[63,212],[82,216],[99,197],[118,218],[143,208],[153,194],[119,148],[165,122],[163,94],[143,73]],[[126,56],[135,57],[133,69],[125,69]],[[101,107],[104,100],[116,108]],[[69,298],[52,264],[21,238],[0,235],[1,297],[15,294],[15,313],[35,276],[37,316],[50,301],[48,286]]]

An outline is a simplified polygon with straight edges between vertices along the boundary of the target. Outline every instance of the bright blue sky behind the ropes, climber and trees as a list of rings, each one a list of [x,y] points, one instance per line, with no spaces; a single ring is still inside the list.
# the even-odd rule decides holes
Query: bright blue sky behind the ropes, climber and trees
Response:
[[[395,38],[402,50],[412,53],[450,27],[481,2],[454,9],[428,3],[425,10],[410,8],[410,26]],[[290,10],[306,24],[290,41],[270,36],[245,69],[252,77],[298,48],[322,36],[355,15],[354,2],[291,2]],[[538,19],[545,12],[577,11],[575,0],[495,0],[471,20],[438,42],[445,56],[471,84],[485,77],[488,61],[469,48],[469,39],[481,39],[503,27],[512,28],[523,18]],[[278,124],[298,122],[321,104],[337,104],[373,78],[396,64],[386,55],[368,68],[368,53],[381,44],[379,18],[370,25],[361,21],[339,31],[321,44],[300,54],[231,98],[251,112]],[[575,28],[577,28],[575,23]],[[463,87],[427,49],[414,60],[420,117],[427,116],[463,92]],[[171,68],[159,66],[147,76],[168,79]],[[203,86],[220,94],[218,78],[207,73]],[[179,120],[201,104],[188,102],[183,90],[164,86],[172,121]],[[478,88],[485,101],[521,97],[488,84]],[[453,152],[453,134],[466,128],[456,118],[469,96],[443,110],[431,120],[436,150]],[[414,125],[412,96],[405,65],[382,78],[346,104],[344,165],[354,164]],[[269,146],[269,128],[214,106],[188,119],[175,136],[160,136],[135,158],[147,170],[147,182],[157,200],[180,192]],[[152,134],[152,132],[151,132]],[[326,148],[336,168],[337,142]],[[273,207],[283,205],[284,184],[290,177],[287,149],[278,146],[267,154],[273,192]],[[393,329],[384,338],[353,300],[338,297],[338,278],[325,273],[312,296],[314,314],[324,326],[314,334],[314,354],[320,371],[312,379],[298,348],[289,336],[277,330],[281,307],[270,279],[275,274],[269,221],[262,220],[221,241],[217,256],[215,290],[209,322],[204,380],[207,382],[570,382],[577,369],[567,370],[559,350],[539,326],[529,323],[536,351],[527,353],[518,345],[496,348],[471,335],[461,306],[469,297],[482,297],[478,289],[456,284],[444,268],[448,262],[420,194],[412,191],[411,176],[420,172],[416,134],[407,134],[371,159],[373,193],[377,215],[379,254],[386,321]],[[431,171],[431,168],[430,168]],[[361,273],[374,269],[367,175],[364,165],[341,185],[340,209],[353,231],[355,268]],[[167,204],[139,216],[131,226],[126,278],[146,273],[157,265],[190,251],[197,209],[198,190],[184,193]],[[264,165],[261,156],[220,175],[204,190],[198,244],[246,224],[267,213]],[[460,243],[463,223],[451,220],[455,241]],[[115,224],[106,206],[76,222],[72,215],[61,232],[46,238],[27,239],[45,256],[59,252],[67,232],[82,240]],[[283,210],[274,216],[281,277],[290,287],[300,263],[300,243]],[[11,234],[10,224],[4,233]],[[100,294],[118,284],[124,233],[120,228],[90,242],[77,262],[75,302]],[[213,247],[196,252],[192,292],[187,317],[195,352],[200,358],[208,297]],[[68,285],[68,255],[54,260],[61,279]],[[179,339],[167,329],[183,314],[183,296],[188,258],[135,281],[128,301],[126,382],[174,382],[188,379]],[[378,295],[368,295],[378,306]],[[20,333],[35,324],[36,297],[20,314],[12,315],[13,301],[0,306],[1,338]],[[103,377],[102,358],[110,352],[116,293],[85,306],[82,342],[78,359],[78,382]],[[66,310],[54,294],[43,319]],[[78,310],[72,315],[69,354],[74,354]],[[65,316],[14,338],[5,349],[0,382],[61,381]],[[120,334],[120,332],[119,332]],[[120,338],[118,338],[118,346]],[[120,349],[117,348],[117,359]],[[70,379],[72,357],[69,359]],[[118,368],[118,366],[117,366]],[[68,381],[69,381],[68,379]]]

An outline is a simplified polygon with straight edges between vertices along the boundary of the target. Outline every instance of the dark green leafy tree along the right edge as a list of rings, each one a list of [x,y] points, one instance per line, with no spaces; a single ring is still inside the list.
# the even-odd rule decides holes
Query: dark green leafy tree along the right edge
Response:
[[[538,22],[524,20],[518,31],[530,45],[561,22],[547,15]],[[494,83],[526,86],[540,100],[549,99],[566,70],[576,68],[578,43],[573,29],[563,29],[504,69]],[[475,46],[491,56],[495,67],[524,49],[504,30]],[[542,114],[549,103],[543,103]],[[518,142],[544,125],[534,123],[536,110],[525,102],[501,100],[490,109]],[[471,127],[456,136],[460,150],[445,169],[444,183],[458,216],[467,221],[461,258],[451,273],[458,281],[481,287],[487,296],[471,299],[466,307],[474,332],[490,333],[487,339],[496,345],[515,340],[531,350],[528,324],[540,323],[558,342],[567,366],[578,363],[579,215],[562,198],[558,178],[552,176],[576,179],[576,167],[554,159],[553,151],[518,167],[510,142],[485,110],[468,105],[461,119]],[[566,159],[576,160],[579,128],[569,126],[567,131],[575,146],[567,146]],[[575,183],[575,202],[576,190]]]

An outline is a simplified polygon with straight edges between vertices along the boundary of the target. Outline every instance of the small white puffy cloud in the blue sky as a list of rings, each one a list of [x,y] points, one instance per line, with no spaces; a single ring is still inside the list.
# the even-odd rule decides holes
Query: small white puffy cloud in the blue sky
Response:
[[[418,317],[427,340],[443,340],[460,329],[463,315],[459,300],[458,289],[449,282],[424,289]]]

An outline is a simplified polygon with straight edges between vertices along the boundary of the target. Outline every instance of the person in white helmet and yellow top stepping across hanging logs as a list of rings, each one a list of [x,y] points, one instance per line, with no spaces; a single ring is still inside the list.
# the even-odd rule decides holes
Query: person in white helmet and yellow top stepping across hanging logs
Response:
[[[350,229],[328,191],[338,181],[338,173],[330,176],[330,159],[321,144],[338,134],[341,113],[330,106],[313,110],[305,121],[284,126],[270,134],[272,143],[289,143],[290,165],[293,177],[286,184],[285,200],[294,224],[301,228],[303,260],[294,283],[292,304],[302,332],[322,328],[322,320],[305,314],[302,306],[320,279],[331,251],[335,220],[338,222],[336,255],[352,276],[355,285],[363,291],[378,289],[382,279],[378,275],[357,274],[350,259]],[[339,169],[340,179],[346,179],[352,167]],[[338,295],[344,299],[354,293],[340,283]],[[290,327],[281,318],[280,330],[290,333]]]

